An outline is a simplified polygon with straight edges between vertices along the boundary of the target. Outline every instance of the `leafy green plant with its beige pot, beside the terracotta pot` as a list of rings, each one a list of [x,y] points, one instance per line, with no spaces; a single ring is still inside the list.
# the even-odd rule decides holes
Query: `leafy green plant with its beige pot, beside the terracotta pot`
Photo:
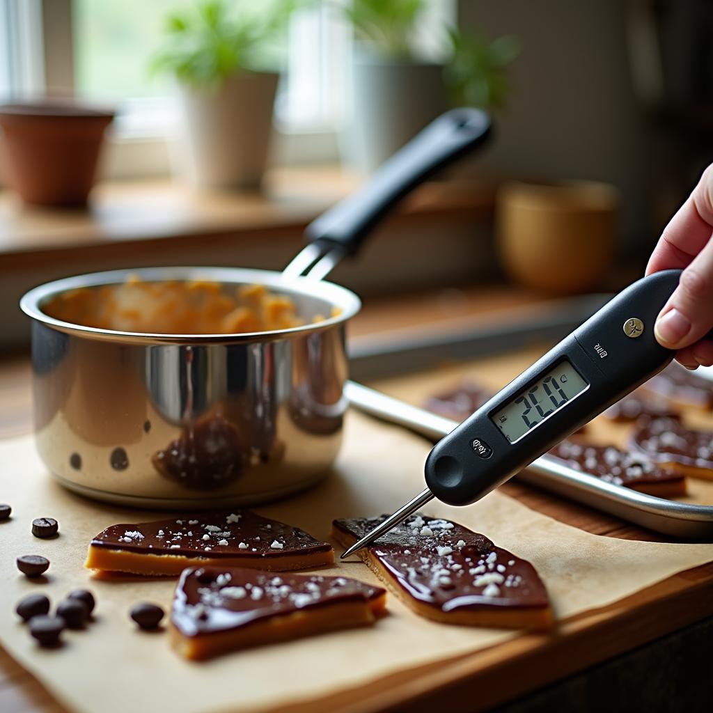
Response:
[[[170,14],[155,71],[175,76],[185,168],[198,188],[257,188],[265,173],[276,46],[299,0],[202,0]]]

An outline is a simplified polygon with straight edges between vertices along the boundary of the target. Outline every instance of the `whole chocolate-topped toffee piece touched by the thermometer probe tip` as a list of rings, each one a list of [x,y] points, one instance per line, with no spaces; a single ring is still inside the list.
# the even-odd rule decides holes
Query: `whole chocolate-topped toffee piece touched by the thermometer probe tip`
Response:
[[[386,517],[334,520],[332,534],[347,547]],[[545,585],[533,565],[463,525],[412,515],[359,556],[429,619],[508,629],[552,625]]]

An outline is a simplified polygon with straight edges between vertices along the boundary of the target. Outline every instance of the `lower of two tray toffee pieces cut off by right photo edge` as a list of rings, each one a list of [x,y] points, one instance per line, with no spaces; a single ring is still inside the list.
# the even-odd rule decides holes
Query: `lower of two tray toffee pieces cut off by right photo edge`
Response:
[[[713,480],[713,434],[687,429],[678,419],[640,419],[630,446],[661,468]]]

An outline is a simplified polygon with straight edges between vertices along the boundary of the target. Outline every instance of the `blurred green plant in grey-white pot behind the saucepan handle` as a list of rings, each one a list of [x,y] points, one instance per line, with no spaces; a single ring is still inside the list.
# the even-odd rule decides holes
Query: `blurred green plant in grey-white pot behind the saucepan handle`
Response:
[[[377,168],[449,103],[503,106],[507,67],[518,53],[514,38],[489,42],[431,28],[442,35],[442,61],[436,63],[424,58],[416,41],[426,0],[353,0],[340,7],[356,36],[354,118],[345,146],[357,168]]]

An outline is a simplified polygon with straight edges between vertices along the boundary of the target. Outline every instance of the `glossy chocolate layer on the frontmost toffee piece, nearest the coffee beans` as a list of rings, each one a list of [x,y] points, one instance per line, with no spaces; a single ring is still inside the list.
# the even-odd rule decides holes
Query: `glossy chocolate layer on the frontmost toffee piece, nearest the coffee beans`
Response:
[[[379,587],[346,577],[279,576],[242,568],[189,568],[175,590],[171,623],[186,637],[216,634],[339,602],[369,602]]]

